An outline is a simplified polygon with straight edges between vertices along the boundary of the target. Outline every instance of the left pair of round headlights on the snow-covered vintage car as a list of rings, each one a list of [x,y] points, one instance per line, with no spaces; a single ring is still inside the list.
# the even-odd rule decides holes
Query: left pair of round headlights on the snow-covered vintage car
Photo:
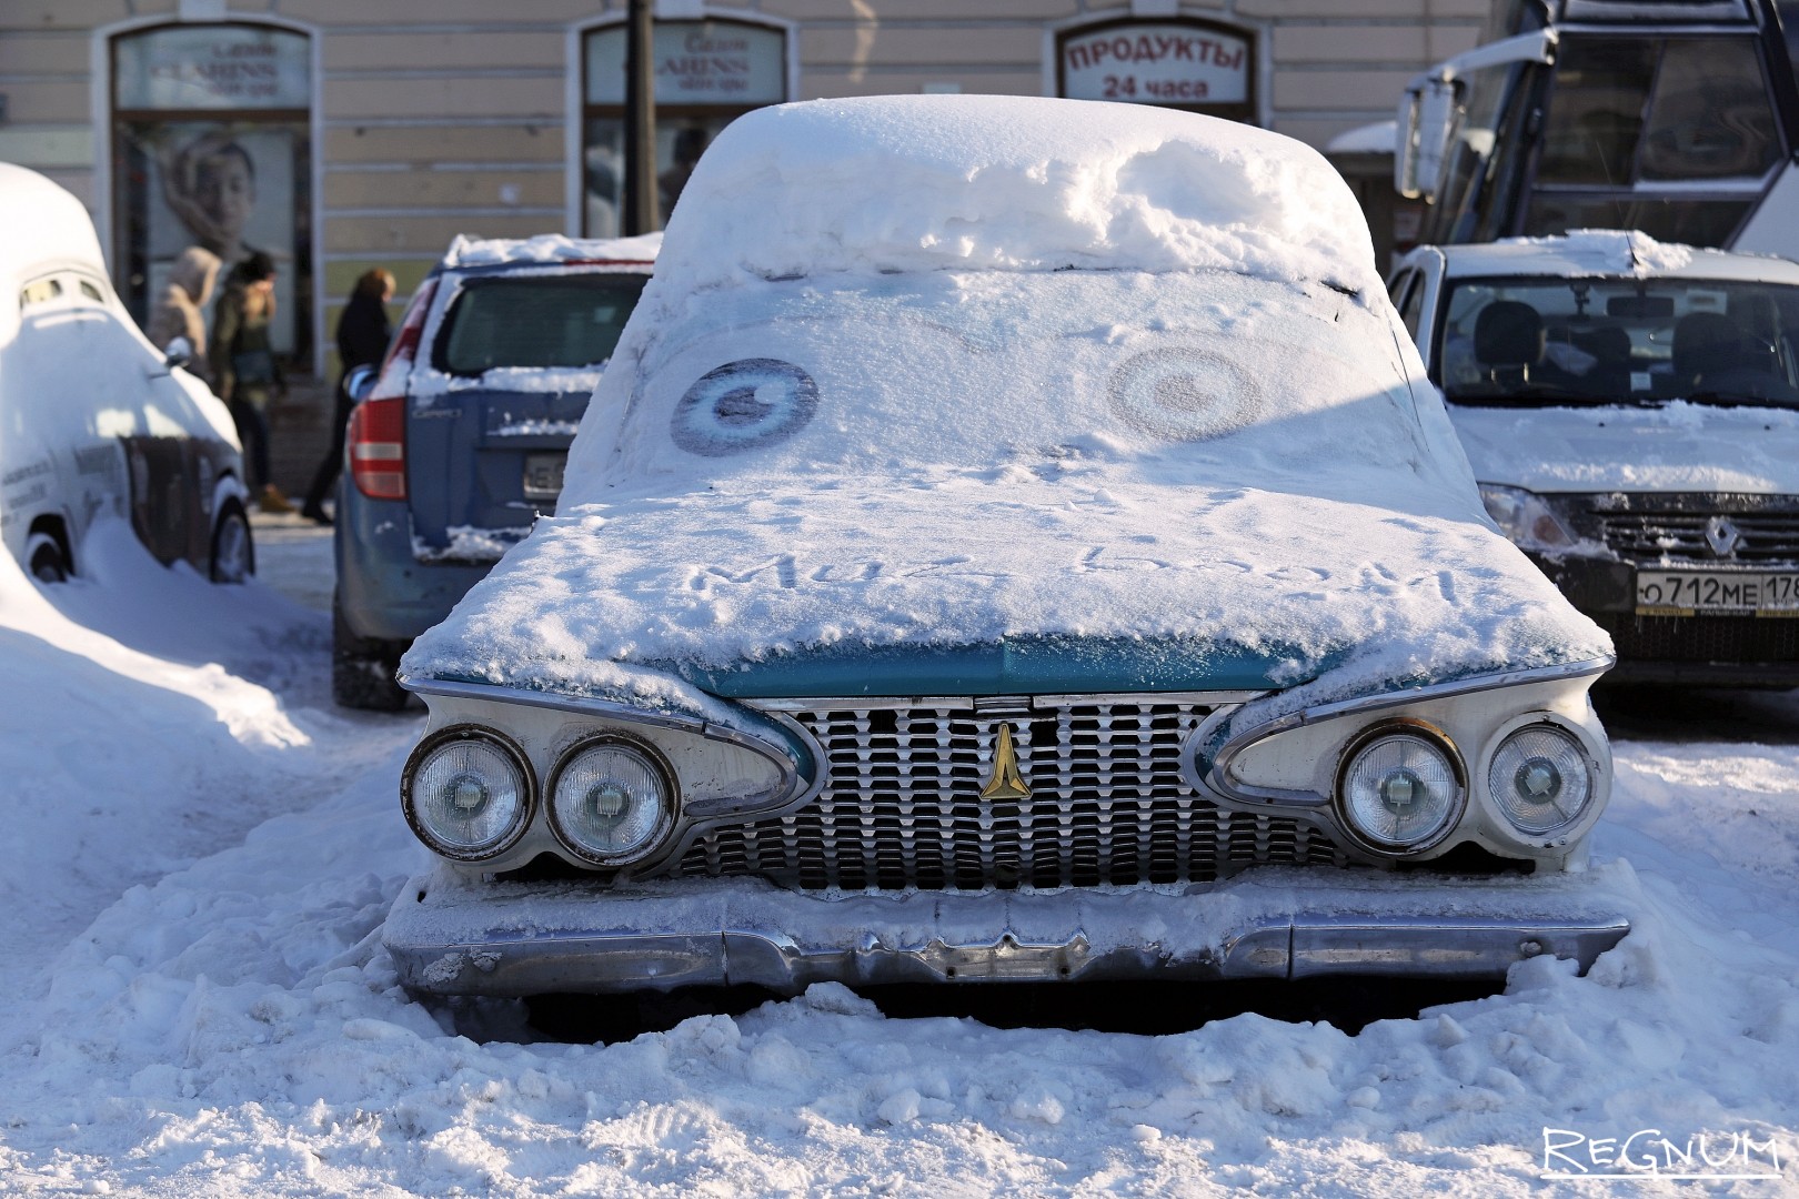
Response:
[[[673,769],[653,746],[604,733],[561,753],[545,795],[549,827],[563,850],[595,866],[622,866],[662,845],[678,793]],[[538,787],[525,753],[507,737],[455,724],[412,751],[399,802],[432,850],[486,861],[525,836]]]

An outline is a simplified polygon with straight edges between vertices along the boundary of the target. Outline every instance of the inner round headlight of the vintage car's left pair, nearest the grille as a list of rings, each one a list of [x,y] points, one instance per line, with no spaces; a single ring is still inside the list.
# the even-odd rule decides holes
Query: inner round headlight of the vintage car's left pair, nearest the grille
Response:
[[[550,780],[550,829],[577,857],[617,866],[653,850],[675,822],[675,786],[646,748],[612,737],[576,746]]]

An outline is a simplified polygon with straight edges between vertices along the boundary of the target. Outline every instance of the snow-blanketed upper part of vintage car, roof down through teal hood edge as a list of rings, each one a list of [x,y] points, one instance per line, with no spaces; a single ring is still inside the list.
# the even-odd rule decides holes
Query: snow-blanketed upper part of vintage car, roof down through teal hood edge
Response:
[[[774,137],[792,113],[720,138],[558,514],[419,638],[410,678],[696,706],[1382,690],[1608,653],[1486,523],[1365,237],[1317,225],[1360,223],[1322,160],[1182,113],[961,99],[939,111],[968,128],[917,144],[862,120],[885,102],[813,122],[883,171],[849,196],[790,178],[804,212],[689,257],[689,226],[723,235],[759,173],[820,155]],[[941,158],[962,135],[1004,144],[957,191]],[[1115,142],[1128,169],[1103,176]],[[919,196],[966,221],[921,232]],[[1088,243],[1058,259],[1072,225],[1117,266]]]

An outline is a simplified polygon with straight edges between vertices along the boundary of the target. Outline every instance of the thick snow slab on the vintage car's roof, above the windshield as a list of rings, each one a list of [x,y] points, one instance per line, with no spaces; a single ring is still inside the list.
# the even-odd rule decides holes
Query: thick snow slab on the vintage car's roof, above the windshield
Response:
[[[837,271],[1070,266],[1382,289],[1355,196],[1311,147],[1148,104],[1015,95],[747,113],[687,182],[657,271],[696,291]]]

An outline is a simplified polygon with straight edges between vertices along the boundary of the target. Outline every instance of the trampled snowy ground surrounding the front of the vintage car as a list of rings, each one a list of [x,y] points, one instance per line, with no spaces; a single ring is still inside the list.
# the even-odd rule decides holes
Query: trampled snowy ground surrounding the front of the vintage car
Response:
[[[527,1043],[491,1003],[475,1041],[380,946],[425,863],[394,800],[419,717],[329,705],[329,537],[261,523],[239,590],[110,532],[92,581],[0,559],[0,1192],[1799,1188],[1790,696],[1619,701],[1594,868],[1635,931],[1587,978],[1533,960],[1358,1035],[997,1030],[820,985],[612,1046]],[[1540,1177],[1581,1170],[1660,1177]]]

